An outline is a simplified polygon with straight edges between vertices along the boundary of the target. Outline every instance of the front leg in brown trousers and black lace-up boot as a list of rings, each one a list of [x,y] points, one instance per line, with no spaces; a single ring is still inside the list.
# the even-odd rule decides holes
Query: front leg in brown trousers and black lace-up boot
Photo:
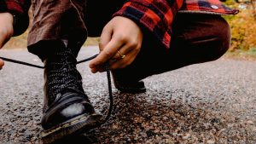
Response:
[[[86,39],[85,1],[33,0],[28,49],[44,61],[43,141],[90,130],[102,122],[84,93],[76,57]]]

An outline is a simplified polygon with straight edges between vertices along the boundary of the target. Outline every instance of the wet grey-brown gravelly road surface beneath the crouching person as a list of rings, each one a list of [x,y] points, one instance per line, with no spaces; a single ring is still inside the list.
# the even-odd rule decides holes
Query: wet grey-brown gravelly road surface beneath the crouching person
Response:
[[[79,60],[97,53],[83,48]],[[26,50],[0,55],[42,65]],[[84,90],[108,109],[106,73],[80,64]],[[66,143],[256,143],[256,61],[221,58],[144,79],[147,92],[119,94],[108,123]],[[43,70],[6,62],[0,71],[0,143],[42,143]],[[62,142],[64,143],[64,142]]]

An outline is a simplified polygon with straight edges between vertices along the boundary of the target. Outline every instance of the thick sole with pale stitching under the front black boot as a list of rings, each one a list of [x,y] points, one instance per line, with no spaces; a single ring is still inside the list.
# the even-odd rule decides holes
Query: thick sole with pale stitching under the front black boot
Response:
[[[87,130],[92,130],[100,126],[102,121],[103,117],[101,114],[83,114],[58,124],[54,128],[44,130],[42,133],[42,141],[44,144],[49,144],[54,141],[59,141],[64,137],[67,138],[67,136],[79,135]]]

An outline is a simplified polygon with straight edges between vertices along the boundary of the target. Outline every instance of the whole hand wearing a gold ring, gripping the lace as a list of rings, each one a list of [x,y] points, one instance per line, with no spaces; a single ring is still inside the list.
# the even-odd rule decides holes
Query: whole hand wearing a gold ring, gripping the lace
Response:
[[[135,60],[143,43],[143,32],[137,24],[125,17],[116,16],[103,28],[100,37],[100,54],[90,61],[91,72],[103,72],[109,60],[110,69],[124,68]],[[121,55],[125,55],[121,58]]]

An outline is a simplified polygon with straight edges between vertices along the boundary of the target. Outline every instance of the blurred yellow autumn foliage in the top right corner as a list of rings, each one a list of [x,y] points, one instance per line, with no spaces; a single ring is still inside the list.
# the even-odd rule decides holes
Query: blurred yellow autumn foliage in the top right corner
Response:
[[[240,10],[239,14],[224,16],[230,24],[232,39],[230,51],[252,51],[256,48],[256,16],[251,1],[227,0],[225,3]]]

